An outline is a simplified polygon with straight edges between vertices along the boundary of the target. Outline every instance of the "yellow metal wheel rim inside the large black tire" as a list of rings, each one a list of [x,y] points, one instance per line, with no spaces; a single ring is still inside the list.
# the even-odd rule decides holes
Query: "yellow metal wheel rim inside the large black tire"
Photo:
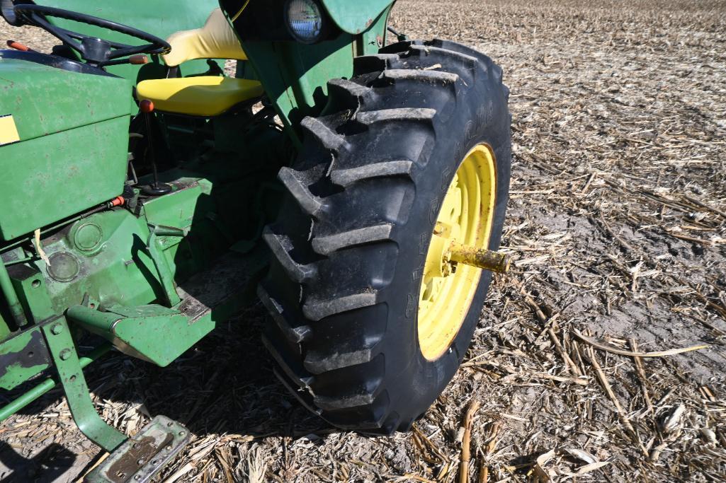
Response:
[[[418,302],[418,342],[428,360],[440,358],[449,349],[476,293],[481,268],[451,263],[446,247],[452,241],[489,247],[496,173],[492,150],[478,144],[461,162],[441,204]]]

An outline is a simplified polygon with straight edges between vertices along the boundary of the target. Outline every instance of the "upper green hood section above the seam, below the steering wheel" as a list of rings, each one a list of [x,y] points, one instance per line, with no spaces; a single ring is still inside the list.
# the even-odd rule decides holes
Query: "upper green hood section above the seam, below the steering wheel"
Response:
[[[32,57],[0,51],[0,116],[12,116],[20,141],[131,115],[128,80],[70,72]]]

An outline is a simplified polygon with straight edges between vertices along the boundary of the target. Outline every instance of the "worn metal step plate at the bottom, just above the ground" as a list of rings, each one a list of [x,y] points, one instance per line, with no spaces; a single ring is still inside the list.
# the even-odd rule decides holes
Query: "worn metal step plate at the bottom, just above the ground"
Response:
[[[119,446],[94,471],[89,483],[147,483],[189,442],[189,430],[166,416],[156,416],[139,434]]]

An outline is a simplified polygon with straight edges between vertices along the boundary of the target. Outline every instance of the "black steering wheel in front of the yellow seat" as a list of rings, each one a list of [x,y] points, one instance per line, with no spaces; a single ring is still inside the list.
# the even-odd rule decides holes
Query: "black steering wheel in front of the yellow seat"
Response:
[[[81,58],[92,65],[102,66],[119,57],[129,57],[134,54],[168,54],[171,46],[161,38],[152,36],[150,33],[138,30],[128,25],[123,25],[111,20],[93,17],[80,12],[57,9],[55,7],[44,7],[35,4],[20,4],[14,7],[15,14],[25,17],[28,22],[38,25],[47,30],[52,36],[59,38],[64,44],[78,52]],[[76,22],[94,25],[95,27],[107,28],[114,32],[123,33],[127,36],[139,38],[148,42],[140,46],[120,44],[107,41],[102,38],[86,36],[83,33],[73,32],[52,25],[45,17],[65,18]],[[118,63],[118,62],[113,62]]]

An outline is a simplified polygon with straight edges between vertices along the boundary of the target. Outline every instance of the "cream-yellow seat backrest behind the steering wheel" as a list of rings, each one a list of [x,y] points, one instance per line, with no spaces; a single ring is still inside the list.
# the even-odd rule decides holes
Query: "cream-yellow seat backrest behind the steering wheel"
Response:
[[[171,52],[162,58],[169,67],[192,59],[247,60],[237,34],[219,8],[212,10],[202,28],[172,33],[166,41]]]

